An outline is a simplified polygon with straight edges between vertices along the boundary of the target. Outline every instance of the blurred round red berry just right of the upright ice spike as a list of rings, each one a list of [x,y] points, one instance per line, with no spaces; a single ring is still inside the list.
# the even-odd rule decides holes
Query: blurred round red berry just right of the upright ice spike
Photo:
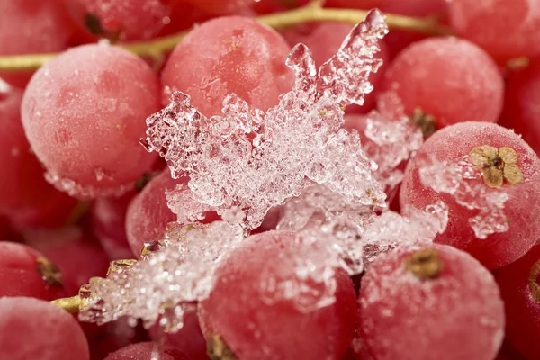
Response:
[[[504,83],[490,56],[467,40],[432,38],[403,49],[384,73],[383,92],[397,94],[405,113],[435,117],[437,128],[499,119]],[[379,96],[380,108],[392,104]]]

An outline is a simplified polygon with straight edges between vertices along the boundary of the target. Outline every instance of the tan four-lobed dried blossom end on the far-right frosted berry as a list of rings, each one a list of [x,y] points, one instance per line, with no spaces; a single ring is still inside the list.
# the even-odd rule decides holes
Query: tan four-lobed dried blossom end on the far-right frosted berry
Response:
[[[517,165],[518,153],[513,148],[482,145],[473,148],[469,155],[473,165],[482,170],[484,183],[491,188],[502,187],[504,181],[510,185],[523,182],[523,174]]]

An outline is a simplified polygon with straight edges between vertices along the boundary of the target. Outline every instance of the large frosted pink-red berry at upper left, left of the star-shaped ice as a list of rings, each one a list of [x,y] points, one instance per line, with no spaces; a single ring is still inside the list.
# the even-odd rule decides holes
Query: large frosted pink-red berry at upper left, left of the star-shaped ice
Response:
[[[22,115],[49,180],[82,198],[126,192],[156,158],[139,139],[159,109],[158,89],[142,59],[112,46],[70,49],[41,67]]]

